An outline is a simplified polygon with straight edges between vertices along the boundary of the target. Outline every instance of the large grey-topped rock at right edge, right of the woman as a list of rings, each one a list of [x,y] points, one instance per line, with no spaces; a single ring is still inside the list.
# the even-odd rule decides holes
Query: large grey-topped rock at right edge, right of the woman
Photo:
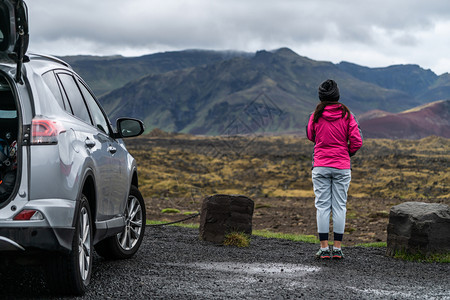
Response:
[[[450,207],[445,204],[405,202],[391,208],[386,254],[450,252]]]

